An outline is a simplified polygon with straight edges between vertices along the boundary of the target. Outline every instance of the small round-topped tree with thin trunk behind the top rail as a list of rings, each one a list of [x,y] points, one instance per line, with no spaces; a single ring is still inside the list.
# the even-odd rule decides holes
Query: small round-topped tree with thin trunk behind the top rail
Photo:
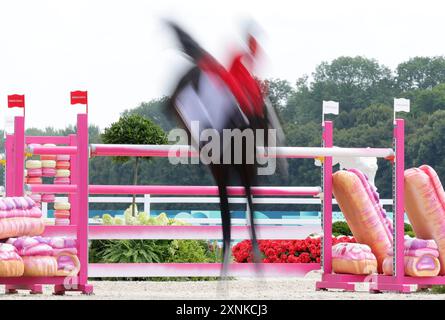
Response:
[[[119,118],[119,121],[111,124],[102,134],[102,140],[107,144],[166,144],[165,132],[154,122],[142,116],[133,114]],[[139,159],[134,157],[133,184],[138,184]],[[149,160],[148,157],[143,159]],[[130,157],[113,157],[118,163],[130,161]],[[132,211],[135,216],[136,195],[133,195]]]

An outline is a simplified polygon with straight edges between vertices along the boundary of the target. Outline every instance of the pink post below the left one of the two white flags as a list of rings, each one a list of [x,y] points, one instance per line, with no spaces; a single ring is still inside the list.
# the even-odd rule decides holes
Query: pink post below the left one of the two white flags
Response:
[[[324,148],[332,148],[332,122],[323,123]],[[323,272],[332,273],[332,157],[323,161]]]

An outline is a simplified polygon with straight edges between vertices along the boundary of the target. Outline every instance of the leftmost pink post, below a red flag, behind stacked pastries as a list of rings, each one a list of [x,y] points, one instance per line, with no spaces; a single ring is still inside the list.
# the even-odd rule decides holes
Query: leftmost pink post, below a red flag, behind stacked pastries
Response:
[[[24,195],[24,171],[25,171],[25,118],[14,118],[14,196]]]

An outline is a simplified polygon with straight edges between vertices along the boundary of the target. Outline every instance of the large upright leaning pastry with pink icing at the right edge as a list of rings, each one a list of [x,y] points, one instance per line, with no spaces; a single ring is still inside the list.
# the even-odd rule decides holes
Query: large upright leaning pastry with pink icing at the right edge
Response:
[[[416,237],[435,240],[445,275],[445,191],[430,166],[405,170],[405,210]]]

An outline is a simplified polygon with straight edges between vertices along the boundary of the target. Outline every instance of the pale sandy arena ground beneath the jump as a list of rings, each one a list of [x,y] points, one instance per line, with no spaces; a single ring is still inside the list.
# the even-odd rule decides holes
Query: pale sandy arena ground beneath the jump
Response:
[[[42,295],[30,295],[27,291],[18,294],[0,294],[0,300],[19,299],[254,299],[254,300],[316,300],[316,299],[441,299],[445,294],[416,292],[411,294],[341,291],[315,291],[315,281],[319,274],[312,273],[306,278],[237,279],[227,282],[225,290],[217,281],[92,281],[94,295],[86,296],[68,292],[65,296],[52,295],[50,286],[44,287]]]

